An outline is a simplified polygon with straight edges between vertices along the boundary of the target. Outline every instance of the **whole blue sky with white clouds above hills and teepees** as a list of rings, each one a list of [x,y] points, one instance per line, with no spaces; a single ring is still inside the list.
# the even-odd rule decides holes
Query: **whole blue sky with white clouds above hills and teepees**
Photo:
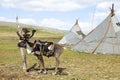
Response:
[[[114,3],[120,20],[120,0],[0,0],[0,21],[70,30],[76,19],[84,32],[91,31],[110,13]]]

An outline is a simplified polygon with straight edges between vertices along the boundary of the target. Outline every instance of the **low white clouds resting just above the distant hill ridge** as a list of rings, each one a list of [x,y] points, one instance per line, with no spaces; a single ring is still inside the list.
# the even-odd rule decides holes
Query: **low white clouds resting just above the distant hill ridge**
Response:
[[[1,16],[0,21],[15,22],[16,20]],[[50,27],[61,30],[69,30],[73,26],[73,24],[55,18],[44,18],[41,21],[36,21],[35,19],[32,18],[19,18],[18,21],[24,24]]]

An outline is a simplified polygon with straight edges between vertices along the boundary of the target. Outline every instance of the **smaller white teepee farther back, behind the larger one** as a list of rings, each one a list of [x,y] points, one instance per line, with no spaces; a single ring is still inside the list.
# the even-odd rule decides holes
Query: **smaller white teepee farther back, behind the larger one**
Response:
[[[58,44],[76,44],[83,37],[85,37],[85,34],[83,34],[81,31],[78,20],[76,20],[76,23],[71,28],[71,30],[58,42]]]

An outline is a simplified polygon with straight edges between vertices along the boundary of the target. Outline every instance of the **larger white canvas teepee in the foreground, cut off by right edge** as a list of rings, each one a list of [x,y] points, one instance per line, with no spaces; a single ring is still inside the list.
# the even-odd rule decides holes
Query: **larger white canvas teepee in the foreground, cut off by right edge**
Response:
[[[114,5],[108,17],[72,49],[80,52],[120,54],[120,26]]]

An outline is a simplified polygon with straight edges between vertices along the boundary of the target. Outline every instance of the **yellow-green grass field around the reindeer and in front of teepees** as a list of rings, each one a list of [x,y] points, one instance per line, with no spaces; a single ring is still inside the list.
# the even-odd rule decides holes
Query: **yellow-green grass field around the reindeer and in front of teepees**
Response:
[[[120,80],[120,55],[88,54],[64,50],[60,57],[61,74],[52,75],[54,58],[46,58],[48,74],[25,74],[17,47],[17,29],[0,27],[0,80]],[[63,34],[37,30],[35,39],[58,42]],[[27,66],[37,63],[37,58],[27,55]],[[32,71],[35,72],[35,71]]]

